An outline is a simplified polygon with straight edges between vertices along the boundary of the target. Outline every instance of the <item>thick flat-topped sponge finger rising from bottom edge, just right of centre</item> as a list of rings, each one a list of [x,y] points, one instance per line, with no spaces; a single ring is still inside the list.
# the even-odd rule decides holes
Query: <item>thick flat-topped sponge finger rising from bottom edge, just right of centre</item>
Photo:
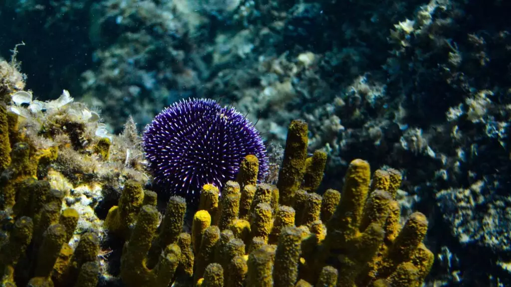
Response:
[[[273,282],[276,286],[292,287],[298,279],[298,259],[300,258],[301,231],[296,227],[286,227],[278,237]]]

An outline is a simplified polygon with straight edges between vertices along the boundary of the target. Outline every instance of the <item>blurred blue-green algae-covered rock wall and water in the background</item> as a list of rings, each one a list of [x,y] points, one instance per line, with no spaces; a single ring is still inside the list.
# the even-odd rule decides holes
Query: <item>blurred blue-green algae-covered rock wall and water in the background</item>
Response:
[[[278,183],[287,125],[303,118],[308,151],[328,155],[319,194],[342,184],[339,174],[354,158],[403,173],[396,191],[402,216],[432,214],[425,242],[443,262],[428,284],[511,284],[508,2],[7,0],[0,6],[0,54],[26,42],[15,58],[37,75],[26,79],[19,63],[1,62],[0,93],[8,100],[26,81],[38,100],[54,99],[65,87],[91,111],[102,110],[102,129],[116,133],[130,115],[143,126],[183,98],[232,103],[251,122],[258,119],[270,158],[264,181],[271,184]],[[7,121],[13,118],[8,113]],[[9,139],[17,142],[12,127]],[[76,134],[70,140],[80,145]],[[79,153],[104,158],[106,141]],[[118,155],[136,166],[141,151],[132,143]],[[120,142],[112,145],[107,154]],[[72,157],[59,154],[67,163]],[[90,166],[81,164],[78,170]],[[49,175],[58,181],[54,171]],[[111,182],[98,205],[103,217],[122,190]],[[255,194],[252,183],[239,184]],[[88,188],[73,190],[91,198]],[[247,195],[240,196],[239,232],[249,224]],[[337,194],[330,190],[322,200],[334,204]],[[329,212],[321,210],[321,219]]]

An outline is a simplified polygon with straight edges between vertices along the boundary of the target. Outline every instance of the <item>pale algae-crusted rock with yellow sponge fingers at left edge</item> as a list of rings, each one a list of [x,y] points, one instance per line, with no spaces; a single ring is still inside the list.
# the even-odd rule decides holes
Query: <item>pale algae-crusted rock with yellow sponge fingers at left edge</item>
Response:
[[[12,63],[0,66],[21,75]],[[102,204],[148,180],[134,125],[110,135],[66,90],[32,100],[12,79],[2,78],[0,102],[2,285],[96,286],[105,266]]]

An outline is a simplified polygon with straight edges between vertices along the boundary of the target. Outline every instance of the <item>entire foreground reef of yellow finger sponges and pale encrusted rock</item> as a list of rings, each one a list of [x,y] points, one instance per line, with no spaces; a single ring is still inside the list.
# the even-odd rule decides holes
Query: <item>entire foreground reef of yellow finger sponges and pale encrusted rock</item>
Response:
[[[203,186],[187,228],[184,198],[171,197],[162,217],[156,194],[144,190],[132,123],[107,135],[80,103],[34,112],[33,103],[13,105],[12,92],[0,104],[3,286],[117,278],[128,287],[416,287],[431,269],[424,214],[400,224],[401,174],[377,170],[371,179],[369,164],[355,159],[342,192],[316,194],[327,155],[308,158],[303,121],[290,125],[276,186],[258,182],[248,155],[236,181]],[[112,240],[123,246],[117,272],[103,250]]]

